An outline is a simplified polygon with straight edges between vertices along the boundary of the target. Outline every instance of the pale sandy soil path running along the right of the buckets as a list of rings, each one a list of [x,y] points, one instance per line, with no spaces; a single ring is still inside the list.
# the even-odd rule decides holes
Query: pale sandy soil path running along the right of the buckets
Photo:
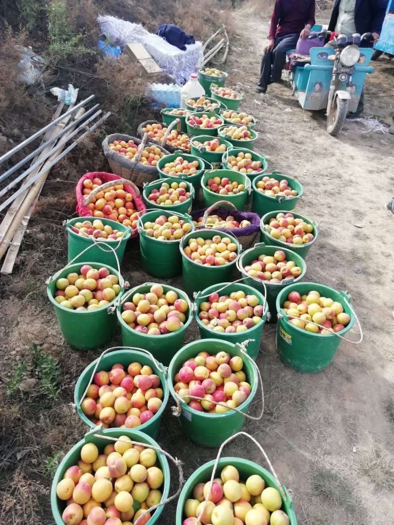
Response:
[[[385,203],[394,193],[394,135],[366,133],[364,124],[348,120],[333,138],[324,113],[303,111],[286,85],[254,93],[267,22],[255,14],[242,17],[243,36],[227,68],[229,85],[241,88],[242,109],[260,121],[255,150],[268,156],[268,171],[296,175],[304,185],[297,211],[319,225],[305,280],[349,291],[364,340],[344,341],[327,370],[303,375],[278,360],[275,328],[267,327],[260,362],[272,417],[259,437],[279,477],[294,490],[300,523],[388,523],[392,493],[374,488],[371,478],[360,474],[360,463],[367,458],[369,465],[379,454],[392,460],[385,456],[392,450],[393,427],[384,406],[394,392],[394,217]],[[389,124],[394,65],[383,59],[374,66],[364,117]],[[356,328],[349,339],[358,340]],[[360,496],[359,508],[334,501],[329,487],[320,487],[322,478],[327,486],[335,484],[337,474],[342,490],[352,487]]]

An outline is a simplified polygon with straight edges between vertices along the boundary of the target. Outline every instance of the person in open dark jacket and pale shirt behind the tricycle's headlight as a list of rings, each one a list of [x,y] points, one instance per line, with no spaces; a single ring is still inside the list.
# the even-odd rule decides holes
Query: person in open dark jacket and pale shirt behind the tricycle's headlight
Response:
[[[328,30],[348,36],[354,33],[372,33],[374,40],[369,44],[372,47],[379,40],[387,2],[388,0],[336,0]],[[330,40],[326,46],[335,48],[336,44],[334,40]],[[349,117],[358,117],[363,110],[364,90],[361,91],[357,111],[349,113]]]

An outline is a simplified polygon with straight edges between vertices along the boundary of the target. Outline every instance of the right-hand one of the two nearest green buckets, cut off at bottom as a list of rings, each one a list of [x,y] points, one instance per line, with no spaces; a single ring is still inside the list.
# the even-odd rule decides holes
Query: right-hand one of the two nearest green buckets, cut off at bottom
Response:
[[[182,525],[183,521],[185,520],[183,508],[185,506],[186,500],[194,499],[193,489],[197,484],[199,483],[205,484],[211,480],[214,465],[215,465],[215,460],[212,459],[212,461],[205,463],[204,465],[199,467],[195,472],[193,472],[193,474],[190,476],[188,481],[186,481],[185,485],[183,486],[182,492],[179,496],[177,514],[175,518],[175,525]],[[276,490],[279,490],[280,492],[280,488],[279,488],[279,485],[275,477],[270,472],[268,472],[268,470],[263,468],[261,465],[258,465],[257,463],[253,463],[252,461],[248,459],[244,459],[244,458],[239,458],[239,457],[220,458],[219,461],[217,462],[216,478],[220,477],[221,470],[227,465],[232,465],[239,471],[242,481],[246,481],[246,479],[249,476],[252,476],[255,474],[257,476],[261,476],[264,479],[266,487],[274,487]],[[284,485],[282,485],[282,488],[286,495],[286,499],[284,499],[282,496],[282,501],[283,501],[282,510],[289,517],[290,525],[297,525],[297,520],[296,520],[296,516],[294,513],[294,509],[293,509],[292,498],[290,497]]]

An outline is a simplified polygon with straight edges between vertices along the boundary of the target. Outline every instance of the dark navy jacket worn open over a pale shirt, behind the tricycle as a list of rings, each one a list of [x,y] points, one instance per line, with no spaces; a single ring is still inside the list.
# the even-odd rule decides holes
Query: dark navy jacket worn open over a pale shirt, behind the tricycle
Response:
[[[357,33],[378,33],[382,30],[388,0],[356,0],[354,21]],[[336,0],[328,30],[334,31],[338,20],[340,0]]]

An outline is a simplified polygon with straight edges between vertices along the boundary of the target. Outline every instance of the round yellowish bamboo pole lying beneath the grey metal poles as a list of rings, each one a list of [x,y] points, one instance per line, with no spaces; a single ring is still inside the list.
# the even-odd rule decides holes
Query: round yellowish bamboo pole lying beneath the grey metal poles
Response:
[[[81,111],[85,112],[85,109],[81,108],[78,111],[77,115],[80,114]],[[70,115],[66,116],[66,118],[64,119],[66,122],[61,121],[60,124],[58,124],[58,125],[59,126],[62,125],[62,124],[66,125],[66,123],[68,122],[69,118],[70,118]],[[72,132],[72,128],[67,132],[67,134],[71,134],[71,132]],[[60,148],[58,148],[54,153],[52,153],[50,155],[49,159],[45,162],[43,168],[45,168],[45,166],[49,165],[50,162],[52,160],[54,160],[57,157],[57,155],[59,153],[61,153],[61,151],[63,151],[64,146],[65,146],[65,144],[60,146]],[[56,146],[55,146],[55,149],[56,149]],[[38,167],[36,170],[37,170],[36,174],[38,174],[39,171],[40,171],[40,168]],[[6,234],[3,236],[3,238],[0,241],[0,260],[3,258],[3,255],[7,251],[8,246],[11,245],[12,239],[13,239],[15,233],[16,233],[16,230],[18,229],[19,224],[22,222],[23,218],[28,213],[29,208],[30,208],[30,206],[32,206],[36,196],[38,196],[38,193],[40,192],[40,188],[44,184],[48,173],[49,173],[49,170],[46,171],[45,173],[43,173],[43,175],[38,179],[38,181],[36,181],[34,183],[34,186],[32,188],[27,189],[26,192],[21,194],[18,199],[15,199],[15,202],[13,204],[13,208],[15,210],[14,216],[12,218],[11,224],[9,224],[9,226],[7,228]],[[33,178],[33,173],[30,174],[29,179],[32,180],[32,178]],[[28,181],[26,180],[26,184],[27,184],[27,182]],[[16,204],[16,200],[18,200],[18,206]]]

